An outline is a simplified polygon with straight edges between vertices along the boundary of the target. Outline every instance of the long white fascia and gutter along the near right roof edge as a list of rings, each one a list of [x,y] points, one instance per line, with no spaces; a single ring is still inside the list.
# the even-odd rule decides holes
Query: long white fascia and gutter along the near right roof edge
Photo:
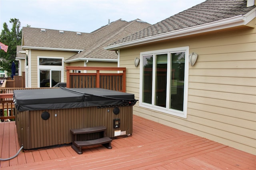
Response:
[[[161,40],[165,40],[165,39],[172,39],[172,38],[176,38],[176,37],[183,37],[186,35],[193,35],[193,34],[197,34],[197,33],[205,33],[208,31],[216,31],[216,30],[231,28],[231,27],[236,27],[236,26],[242,26],[242,25],[246,25],[247,23],[249,23],[255,17],[256,17],[256,8],[254,8],[253,10],[251,10],[250,12],[248,12],[245,15],[239,15],[239,16],[227,18],[227,19],[220,20],[220,21],[214,21],[211,23],[205,23],[202,25],[197,25],[197,26],[193,26],[193,27],[179,29],[176,31],[162,33],[159,35],[153,35],[150,37],[136,39],[136,40],[120,43],[120,44],[110,45],[108,47],[104,47],[104,49],[118,50],[120,48],[131,47],[134,45],[140,45],[140,44],[145,44],[145,43],[150,43],[150,42],[155,42],[155,41],[161,41]]]

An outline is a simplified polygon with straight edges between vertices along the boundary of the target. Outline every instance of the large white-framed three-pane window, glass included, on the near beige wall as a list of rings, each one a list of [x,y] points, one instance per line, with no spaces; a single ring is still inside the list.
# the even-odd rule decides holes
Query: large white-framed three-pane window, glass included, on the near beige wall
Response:
[[[188,47],[141,53],[140,106],[186,118]]]

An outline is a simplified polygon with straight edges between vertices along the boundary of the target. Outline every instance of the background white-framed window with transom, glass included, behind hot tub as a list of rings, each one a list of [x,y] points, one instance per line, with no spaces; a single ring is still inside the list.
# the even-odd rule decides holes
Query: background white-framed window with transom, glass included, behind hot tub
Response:
[[[38,69],[39,87],[53,87],[64,80],[62,57],[38,57]]]

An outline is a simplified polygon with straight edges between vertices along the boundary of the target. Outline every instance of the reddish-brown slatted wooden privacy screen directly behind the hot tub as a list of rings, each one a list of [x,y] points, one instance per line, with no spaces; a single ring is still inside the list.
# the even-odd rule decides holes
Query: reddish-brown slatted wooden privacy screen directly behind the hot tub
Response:
[[[77,73],[76,70],[86,70]],[[66,66],[67,88],[104,88],[126,92],[126,68]]]

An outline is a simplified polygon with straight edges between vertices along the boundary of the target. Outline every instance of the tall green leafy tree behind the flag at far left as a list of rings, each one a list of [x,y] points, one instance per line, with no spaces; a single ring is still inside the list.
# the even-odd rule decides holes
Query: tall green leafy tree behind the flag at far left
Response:
[[[12,29],[9,30],[6,22],[3,24],[3,28],[0,35],[0,42],[8,45],[8,51],[5,53],[3,50],[0,50],[0,62],[1,70],[6,70],[11,73],[12,62],[15,62],[15,65],[18,66],[18,63],[15,61],[16,58],[16,49],[17,45],[21,45],[22,40],[22,30],[20,30],[20,21],[16,18],[11,18],[10,23],[12,23]]]

